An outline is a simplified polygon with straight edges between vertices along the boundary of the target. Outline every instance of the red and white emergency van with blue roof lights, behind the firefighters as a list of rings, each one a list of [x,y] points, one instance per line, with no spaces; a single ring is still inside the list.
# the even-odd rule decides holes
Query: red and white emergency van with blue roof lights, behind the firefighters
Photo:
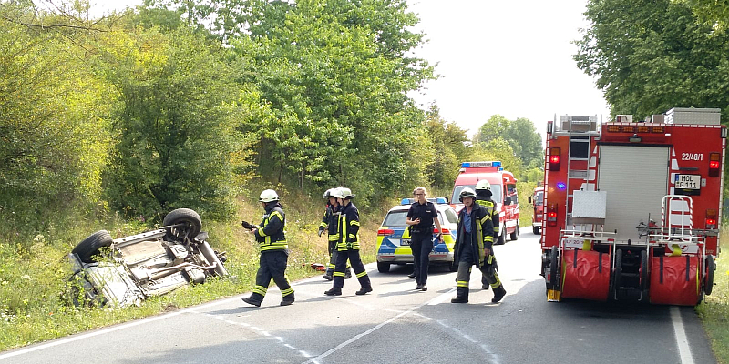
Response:
[[[491,184],[491,199],[496,202],[499,220],[499,235],[495,244],[504,244],[508,234],[511,240],[519,238],[519,199],[517,198],[517,178],[501,167],[501,162],[463,162],[460,173],[456,177],[451,194],[451,204],[456,211],[463,208],[458,200],[461,190],[466,187],[476,189],[481,179]]]

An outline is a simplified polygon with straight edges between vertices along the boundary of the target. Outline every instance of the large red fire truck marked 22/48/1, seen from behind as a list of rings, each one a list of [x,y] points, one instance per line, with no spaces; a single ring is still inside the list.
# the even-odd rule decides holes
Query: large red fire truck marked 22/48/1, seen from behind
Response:
[[[549,122],[541,275],[549,301],[693,306],[714,286],[726,127],[720,109],[651,122]]]

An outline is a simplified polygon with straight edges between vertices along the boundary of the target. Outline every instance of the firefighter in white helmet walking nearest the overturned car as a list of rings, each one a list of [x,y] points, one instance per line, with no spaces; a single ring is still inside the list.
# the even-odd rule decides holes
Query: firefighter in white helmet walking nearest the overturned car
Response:
[[[263,297],[266,295],[271,278],[276,286],[281,288],[283,300],[281,306],[288,306],[293,303],[293,288],[286,278],[286,264],[289,259],[289,246],[283,229],[286,226],[286,215],[279,203],[279,196],[276,191],[266,189],[258,198],[265,210],[263,220],[258,227],[253,227],[249,232],[253,234],[261,248],[258,273],[256,273],[256,286],[250,297],[244,297],[243,302],[260,307]]]

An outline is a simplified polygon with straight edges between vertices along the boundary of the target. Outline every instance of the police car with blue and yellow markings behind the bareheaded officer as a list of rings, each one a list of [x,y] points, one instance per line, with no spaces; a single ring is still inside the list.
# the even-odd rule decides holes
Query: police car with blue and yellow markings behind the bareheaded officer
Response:
[[[436,240],[430,252],[430,264],[447,264],[452,269],[453,245],[456,243],[456,229],[458,215],[453,207],[448,205],[447,198],[427,198],[436,205],[438,220],[443,228],[443,242]],[[407,228],[407,210],[415,202],[414,198],[403,198],[400,205],[390,208],[385,215],[382,226],[377,230],[377,270],[382,273],[390,271],[390,265],[405,265],[413,263],[413,253],[410,250],[410,233]],[[433,239],[438,232],[433,228]]]

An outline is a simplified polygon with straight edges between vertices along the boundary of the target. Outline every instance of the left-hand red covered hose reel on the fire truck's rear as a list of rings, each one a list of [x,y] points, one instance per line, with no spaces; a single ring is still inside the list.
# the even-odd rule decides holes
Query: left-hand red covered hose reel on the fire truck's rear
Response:
[[[562,257],[562,297],[604,301],[610,291],[611,258],[594,250],[566,249]]]

